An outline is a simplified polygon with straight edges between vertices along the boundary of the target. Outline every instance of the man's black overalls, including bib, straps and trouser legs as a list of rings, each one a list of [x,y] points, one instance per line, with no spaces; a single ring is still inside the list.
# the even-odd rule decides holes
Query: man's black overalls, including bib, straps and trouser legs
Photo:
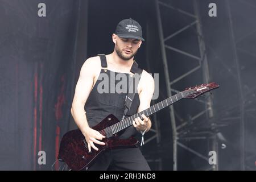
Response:
[[[109,114],[114,114],[115,117],[117,117],[119,121],[121,121],[123,117],[123,111],[125,109],[125,97],[129,89],[128,80],[130,74],[122,73],[127,77],[126,93],[98,92],[98,89],[100,88],[98,87],[98,84],[103,81],[101,74],[106,74],[109,78],[109,91],[111,91],[110,87],[113,88],[113,86],[115,86],[117,82],[119,82],[119,80],[115,79],[115,76],[118,75],[118,73],[106,69],[108,67],[108,64],[106,62],[105,55],[101,55],[100,58],[102,67],[100,76],[98,77],[96,84],[93,86],[93,89],[90,92],[85,104],[86,118],[90,127],[93,127],[100,123],[102,119],[104,119]],[[134,61],[131,72],[134,72],[134,69],[136,70],[137,67],[138,65]],[[111,82],[110,79],[113,79],[114,81],[112,80]],[[113,82],[115,82],[115,84],[113,84]],[[130,110],[126,114],[126,117],[137,113],[139,104],[139,95],[138,92],[136,92],[133,103],[130,107]],[[137,130],[134,128],[134,126],[130,126],[125,130],[120,138],[126,139],[129,138],[131,135],[135,134],[137,134]],[[139,148],[124,148],[105,151],[104,154],[97,158],[96,162],[93,164],[92,167],[89,168],[89,170],[150,170],[150,167],[148,167],[148,164]]]

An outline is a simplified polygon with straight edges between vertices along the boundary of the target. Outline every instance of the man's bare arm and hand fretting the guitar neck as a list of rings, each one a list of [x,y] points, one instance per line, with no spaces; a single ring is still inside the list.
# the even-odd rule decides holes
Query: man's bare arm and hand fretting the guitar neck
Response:
[[[155,83],[154,79],[148,73],[145,73],[145,76],[141,78],[142,81],[142,91],[139,93],[139,100],[141,104],[138,107],[138,113],[150,107],[150,102],[155,90]],[[143,121],[140,118],[135,118],[133,121],[133,126],[137,129],[137,131],[145,131],[150,130],[151,128],[151,121],[150,118],[146,117],[142,114]]]

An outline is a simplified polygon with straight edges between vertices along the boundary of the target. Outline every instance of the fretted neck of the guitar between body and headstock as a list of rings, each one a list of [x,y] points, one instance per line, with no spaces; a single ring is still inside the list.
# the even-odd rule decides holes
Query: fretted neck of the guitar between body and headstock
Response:
[[[158,112],[159,110],[164,109],[167,106],[170,106],[170,105],[174,104],[175,102],[181,100],[182,98],[184,98],[182,92],[179,92],[179,93],[175,94],[174,96],[168,97],[166,100],[158,102],[157,104],[152,105],[148,109],[145,109],[145,110],[143,110],[139,113],[131,115],[130,117],[125,118],[122,121],[120,121],[118,123],[115,123],[112,126],[109,126],[110,131],[112,131],[112,134],[118,133],[119,131],[124,130],[127,127],[133,125],[133,120],[135,118],[139,117],[143,120],[142,114],[146,115],[146,117],[149,117],[150,115]]]

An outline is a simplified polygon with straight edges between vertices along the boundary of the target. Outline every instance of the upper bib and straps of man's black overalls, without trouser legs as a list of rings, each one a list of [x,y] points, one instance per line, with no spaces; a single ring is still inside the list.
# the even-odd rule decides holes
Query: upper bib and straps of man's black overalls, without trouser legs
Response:
[[[134,62],[133,64],[137,64],[137,63]],[[109,91],[111,89],[113,89],[113,86],[117,85],[119,82],[119,80],[117,80],[115,78],[115,76],[118,73],[112,72],[112,71],[106,69],[106,67],[108,67],[108,64],[106,63],[106,59],[101,59],[101,67],[102,68],[101,68],[100,75],[97,78],[96,84],[93,86],[93,89],[90,92],[89,97],[85,104],[86,118],[88,121],[88,125],[90,127],[93,127],[93,126],[97,125],[98,123],[100,123],[102,121],[102,119],[106,118],[109,114],[115,115],[115,117],[117,117],[119,119],[119,121],[121,121],[122,117],[123,117],[123,112],[125,110],[125,98],[126,98],[126,95],[128,93],[128,89],[129,89],[129,81],[128,80],[129,80],[130,74],[122,73],[127,78],[126,93],[116,93],[116,92],[114,92],[114,93],[112,93],[112,92],[99,93],[97,88],[98,88],[98,85],[100,84],[100,82],[103,81],[102,77],[104,77],[104,76],[102,76],[102,74],[108,75],[109,79],[107,79],[107,81],[109,83],[108,84]],[[114,85],[110,84],[111,79],[113,82],[115,82]],[[131,104],[130,110],[127,111],[125,118],[130,117],[131,115],[137,113],[139,104],[140,104],[139,94],[138,94],[138,92],[136,92],[134,99],[133,99],[133,103]],[[137,130],[132,125],[132,126],[128,127],[119,138],[126,139],[135,134],[137,134]]]

